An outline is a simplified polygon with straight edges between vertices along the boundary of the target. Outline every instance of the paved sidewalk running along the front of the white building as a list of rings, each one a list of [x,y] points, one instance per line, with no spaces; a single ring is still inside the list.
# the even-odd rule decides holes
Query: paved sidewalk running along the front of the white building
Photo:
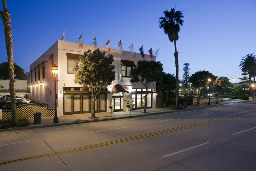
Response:
[[[225,103],[230,103],[230,101],[221,101],[219,104],[211,103],[211,106],[221,105]],[[146,114],[143,113],[144,109],[137,109],[132,111],[122,111],[122,112],[112,112],[112,116],[110,112],[100,112],[95,113],[96,119],[92,119],[90,113],[85,114],[74,114],[74,115],[64,115],[58,116],[59,123],[53,123],[53,117],[42,117],[42,122],[39,124],[34,124],[34,118],[30,118],[30,125],[28,127],[18,127],[18,128],[9,128],[9,129],[0,129],[0,131],[6,130],[22,130],[22,129],[30,129],[30,128],[43,128],[50,126],[59,126],[59,125],[69,125],[69,124],[78,124],[78,123],[88,123],[88,122],[98,122],[98,121],[106,121],[106,120],[114,120],[121,118],[131,118],[131,117],[139,117],[145,115],[156,115],[170,112],[180,112],[192,109],[200,109],[208,106],[208,103],[200,104],[198,107],[196,105],[188,105],[188,108],[184,108],[182,110],[172,110],[173,106],[164,107],[164,108],[149,108],[146,110]]]

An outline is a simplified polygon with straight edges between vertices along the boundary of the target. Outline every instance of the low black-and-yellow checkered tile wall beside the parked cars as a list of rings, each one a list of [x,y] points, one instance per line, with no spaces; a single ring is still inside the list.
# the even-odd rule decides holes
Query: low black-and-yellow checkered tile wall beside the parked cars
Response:
[[[34,117],[34,113],[40,112],[42,117],[54,116],[54,109],[47,109],[46,106],[35,104],[24,104],[16,106],[16,116],[19,117]],[[2,118],[7,119],[12,116],[11,110],[2,110]]]

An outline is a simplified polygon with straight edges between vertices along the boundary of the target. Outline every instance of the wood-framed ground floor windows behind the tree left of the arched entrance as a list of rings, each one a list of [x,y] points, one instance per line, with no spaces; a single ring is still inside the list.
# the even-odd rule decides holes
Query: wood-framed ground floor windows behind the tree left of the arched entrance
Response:
[[[63,95],[64,115],[92,112],[92,95],[65,93]],[[106,112],[107,94],[99,94],[95,101],[95,112]]]

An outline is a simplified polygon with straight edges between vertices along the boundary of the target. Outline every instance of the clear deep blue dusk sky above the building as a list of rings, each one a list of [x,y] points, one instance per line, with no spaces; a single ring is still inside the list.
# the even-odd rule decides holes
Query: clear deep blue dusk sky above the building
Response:
[[[123,50],[131,43],[135,51],[142,45],[144,52],[160,48],[156,61],[163,64],[164,72],[176,75],[174,42],[158,23],[163,11],[171,8],[184,15],[176,41],[179,79],[183,63],[189,63],[190,74],[205,70],[240,82],[240,60],[256,54],[255,0],[6,1],[12,17],[14,63],[25,72],[61,39],[65,29],[65,41],[76,42],[82,33],[83,44],[91,44],[96,36],[101,47],[110,39],[110,48],[115,48],[121,39]],[[7,62],[4,37],[1,22],[0,63]]]

